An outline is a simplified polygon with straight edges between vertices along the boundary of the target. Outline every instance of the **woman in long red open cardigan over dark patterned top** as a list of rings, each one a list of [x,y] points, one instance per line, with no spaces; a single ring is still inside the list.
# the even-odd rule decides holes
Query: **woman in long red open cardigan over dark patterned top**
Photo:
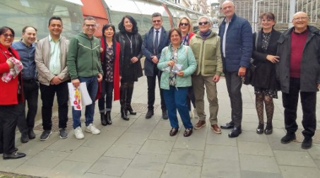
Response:
[[[101,47],[102,53],[100,54],[101,66],[103,70],[103,78],[101,83],[101,96],[98,100],[100,111],[101,124],[106,126],[111,125],[111,108],[112,108],[112,91],[114,90],[114,101],[119,100],[119,55],[120,44],[116,42],[115,38],[116,29],[114,25],[107,24],[102,27]]]

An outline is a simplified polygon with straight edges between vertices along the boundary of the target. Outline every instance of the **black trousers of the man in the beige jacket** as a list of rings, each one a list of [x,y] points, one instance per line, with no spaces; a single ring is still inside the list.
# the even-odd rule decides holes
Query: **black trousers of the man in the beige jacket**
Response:
[[[65,81],[59,85],[43,85],[40,83],[40,92],[42,100],[42,126],[45,131],[52,129],[52,106],[54,95],[57,93],[59,128],[66,128],[68,121],[68,100],[69,90],[68,82]]]

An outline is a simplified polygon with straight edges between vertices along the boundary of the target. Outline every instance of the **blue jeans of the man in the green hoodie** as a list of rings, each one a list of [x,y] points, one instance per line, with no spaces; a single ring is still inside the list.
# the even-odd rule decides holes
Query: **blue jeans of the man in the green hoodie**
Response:
[[[85,126],[93,123],[93,116],[95,115],[95,96],[97,95],[97,76],[93,77],[79,77],[80,83],[85,82],[87,85],[88,93],[93,100],[91,105],[85,106]],[[73,117],[73,129],[81,126],[81,111],[75,110],[72,107],[72,117]]]

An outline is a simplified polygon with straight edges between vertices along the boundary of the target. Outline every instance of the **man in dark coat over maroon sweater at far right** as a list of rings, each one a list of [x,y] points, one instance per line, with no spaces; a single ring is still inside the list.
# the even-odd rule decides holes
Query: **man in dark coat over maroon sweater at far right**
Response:
[[[308,23],[307,13],[295,13],[293,27],[283,32],[278,40],[277,56],[280,61],[276,64],[287,131],[281,143],[295,140],[300,94],[304,127],[301,147],[304,149],[312,147],[312,136],[316,131],[316,92],[320,88],[320,31]]]

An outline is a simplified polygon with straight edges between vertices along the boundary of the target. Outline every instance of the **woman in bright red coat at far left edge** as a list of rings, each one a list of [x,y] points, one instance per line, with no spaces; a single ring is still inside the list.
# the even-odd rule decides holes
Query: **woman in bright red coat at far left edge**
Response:
[[[14,39],[12,28],[0,28],[0,154],[6,159],[25,157],[15,148],[16,126],[23,112],[23,69],[18,52],[11,47]],[[20,104],[19,104],[20,103]]]

